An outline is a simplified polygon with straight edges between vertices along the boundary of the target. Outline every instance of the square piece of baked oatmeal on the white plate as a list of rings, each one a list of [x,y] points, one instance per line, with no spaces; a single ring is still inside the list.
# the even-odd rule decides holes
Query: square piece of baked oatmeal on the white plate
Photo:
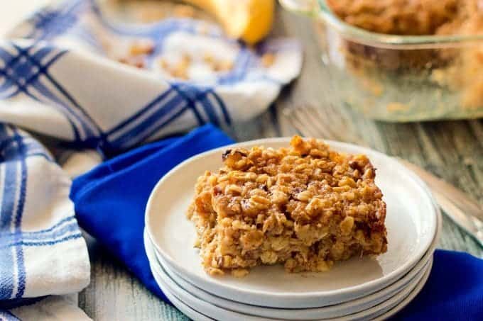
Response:
[[[262,264],[327,271],[386,252],[386,203],[363,155],[294,136],[274,150],[232,148],[197,179],[188,218],[208,274],[244,276]]]

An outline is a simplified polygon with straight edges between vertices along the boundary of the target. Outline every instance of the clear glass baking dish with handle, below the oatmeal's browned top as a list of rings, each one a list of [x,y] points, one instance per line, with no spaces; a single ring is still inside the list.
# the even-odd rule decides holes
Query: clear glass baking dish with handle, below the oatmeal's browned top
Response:
[[[280,0],[315,21],[329,100],[392,122],[483,117],[483,34],[386,35],[350,26],[325,0]]]

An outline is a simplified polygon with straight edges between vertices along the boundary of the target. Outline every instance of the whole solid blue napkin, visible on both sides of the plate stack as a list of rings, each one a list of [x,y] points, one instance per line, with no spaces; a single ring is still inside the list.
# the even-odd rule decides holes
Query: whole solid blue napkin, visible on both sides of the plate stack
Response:
[[[158,180],[184,159],[231,143],[211,125],[140,147],[75,179],[77,220],[146,287],[163,300],[143,246],[144,208]],[[437,250],[423,291],[395,317],[401,320],[483,320],[483,260]]]

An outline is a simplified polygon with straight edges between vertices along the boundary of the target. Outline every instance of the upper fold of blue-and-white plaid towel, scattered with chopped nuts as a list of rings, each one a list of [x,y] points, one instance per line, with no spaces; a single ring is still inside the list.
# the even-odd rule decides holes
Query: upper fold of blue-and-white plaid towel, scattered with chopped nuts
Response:
[[[143,69],[114,60],[139,50]],[[96,1],[67,1],[0,43],[0,120],[116,153],[204,123],[227,128],[258,116],[298,75],[301,57],[293,40],[247,47],[205,21],[120,25]],[[183,61],[188,80],[168,77],[163,64]]]

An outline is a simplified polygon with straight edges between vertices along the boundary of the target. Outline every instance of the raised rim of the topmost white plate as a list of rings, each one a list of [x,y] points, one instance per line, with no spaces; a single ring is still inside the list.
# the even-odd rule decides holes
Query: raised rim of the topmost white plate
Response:
[[[426,184],[422,181],[422,179],[419,178],[418,175],[416,175],[413,171],[410,169],[407,169],[406,167],[403,166],[400,162],[398,162],[394,157],[390,157],[389,155],[386,155],[382,152],[378,152],[376,150],[372,150],[368,147],[363,147],[359,145],[354,145],[354,144],[349,144],[347,142],[337,142],[335,140],[323,140],[327,145],[329,145],[333,150],[338,149],[338,147],[342,148],[347,148],[347,149],[356,149],[359,150],[360,152],[363,152],[364,154],[375,154],[378,157],[381,157],[382,159],[385,159],[387,162],[390,162],[394,166],[398,167],[401,171],[405,172],[406,175],[410,179],[414,181],[415,184],[420,186],[420,188],[423,189],[425,192],[425,196],[428,198],[430,203],[432,204],[432,210],[431,210],[431,230],[428,231],[433,235],[433,238],[431,239],[431,242],[428,242],[428,244],[425,244],[417,254],[413,255],[411,260],[408,260],[405,262],[405,264],[399,266],[397,269],[394,271],[391,271],[391,273],[381,277],[381,278],[376,278],[371,281],[367,281],[364,283],[357,284],[356,286],[349,286],[347,288],[340,288],[337,290],[332,290],[332,291],[310,291],[310,292],[303,292],[303,293],[291,293],[291,292],[270,292],[270,291],[263,291],[263,290],[249,290],[249,289],[240,289],[240,288],[234,288],[232,286],[226,286],[226,285],[220,285],[218,283],[212,283],[210,281],[207,281],[200,276],[197,276],[195,274],[190,273],[188,269],[185,269],[184,266],[181,266],[180,264],[177,264],[176,261],[171,258],[168,254],[166,254],[161,247],[158,246],[156,243],[156,237],[153,237],[152,233],[152,228],[153,225],[151,224],[151,213],[155,213],[152,210],[153,207],[153,198],[156,196],[156,193],[160,189],[160,186],[166,181],[170,176],[172,176],[175,172],[177,172],[179,169],[187,166],[191,162],[195,162],[197,159],[202,159],[203,157],[206,157],[207,155],[210,154],[215,154],[217,152],[220,152],[222,150],[225,150],[230,147],[246,147],[246,146],[252,146],[252,145],[269,145],[269,144],[279,144],[279,143],[288,143],[290,142],[291,137],[273,137],[273,138],[264,138],[260,140],[249,140],[246,142],[237,142],[231,145],[226,145],[222,147],[217,147],[212,150],[207,150],[206,152],[202,152],[200,154],[196,154],[185,161],[181,162],[177,166],[173,167],[168,173],[166,173],[161,179],[158,181],[156,186],[154,186],[153,190],[151,191],[151,194],[148,198],[148,203],[146,205],[146,210],[145,210],[145,226],[146,229],[148,230],[148,234],[151,236],[151,239],[153,240],[153,245],[156,248],[157,252],[160,253],[163,258],[168,261],[173,267],[176,267],[177,270],[182,271],[183,275],[189,275],[192,278],[194,278],[197,281],[200,281],[200,283],[210,283],[217,288],[224,288],[224,289],[229,289],[229,291],[237,291],[241,293],[245,293],[246,295],[258,295],[258,296],[264,296],[265,298],[271,298],[271,299],[283,299],[283,298],[295,298],[297,300],[302,300],[304,298],[314,298],[314,297],[327,297],[330,295],[344,295],[347,293],[352,293],[355,291],[363,291],[364,288],[374,288],[378,287],[381,288],[381,285],[384,285],[385,283],[394,280],[394,278],[397,278],[398,276],[403,275],[405,272],[411,270],[415,264],[421,259],[421,257],[424,256],[425,252],[427,252],[428,248],[430,247],[431,243],[433,242],[436,234],[437,234],[437,229],[438,229],[438,215],[440,215],[440,209],[438,208],[437,203],[435,202],[435,199],[433,198],[432,193],[430,192],[430,189]],[[389,281],[388,281],[389,280]]]

